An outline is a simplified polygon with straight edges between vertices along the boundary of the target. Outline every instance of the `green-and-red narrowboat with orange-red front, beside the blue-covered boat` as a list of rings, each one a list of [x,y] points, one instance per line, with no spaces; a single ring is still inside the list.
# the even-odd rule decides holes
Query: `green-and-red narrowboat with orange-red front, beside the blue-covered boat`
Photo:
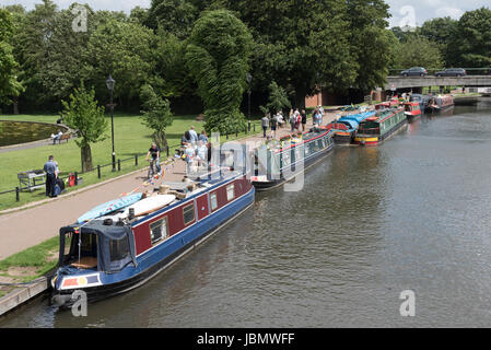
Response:
[[[361,145],[377,145],[407,124],[404,108],[379,110],[360,124],[354,142]]]

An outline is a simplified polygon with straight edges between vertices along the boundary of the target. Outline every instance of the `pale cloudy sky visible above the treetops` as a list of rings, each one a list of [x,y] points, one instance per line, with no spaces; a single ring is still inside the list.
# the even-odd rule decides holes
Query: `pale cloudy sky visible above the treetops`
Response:
[[[239,0],[237,0],[239,1]],[[261,0],[258,0],[261,1]],[[27,10],[34,9],[39,0],[0,0],[0,5],[20,3]],[[54,0],[59,8],[68,8],[74,0]],[[139,5],[149,8],[151,0],[79,0],[87,3],[94,10],[125,11],[129,13]],[[458,20],[464,12],[481,7],[491,9],[491,0],[386,0],[390,5],[390,26],[419,26],[426,20],[451,16]]]

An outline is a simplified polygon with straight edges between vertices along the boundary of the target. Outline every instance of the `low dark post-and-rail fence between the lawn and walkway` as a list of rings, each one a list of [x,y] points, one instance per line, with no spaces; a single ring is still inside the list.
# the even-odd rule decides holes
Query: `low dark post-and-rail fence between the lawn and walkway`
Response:
[[[244,131],[241,131],[241,133],[242,132],[244,132],[244,133],[246,133],[246,135],[248,135],[250,131],[253,131],[253,132],[256,132],[256,124],[249,124],[245,129],[244,129]],[[226,138],[226,140],[229,140],[229,138],[232,136],[232,135],[235,135],[235,137],[236,138],[238,138],[238,133],[239,133],[239,131],[238,130],[236,130],[234,133],[229,133],[229,132],[226,132],[225,133],[225,138]],[[166,149],[165,149],[165,153],[166,153],[166,156],[167,156],[167,159],[169,158],[169,150],[171,149],[177,149],[177,148],[180,148],[180,144],[174,144],[174,145],[167,145],[166,147]],[[136,153],[135,154],[135,156],[131,156],[131,158],[128,158],[128,159],[124,159],[124,160],[117,160],[116,161],[116,163],[113,165],[113,162],[112,163],[109,163],[109,164],[104,164],[104,165],[97,165],[97,166],[95,166],[93,170],[91,170],[91,171],[89,171],[89,172],[85,172],[85,173],[83,173],[83,172],[71,172],[71,173],[69,173],[69,175],[67,175],[67,176],[65,176],[65,177],[60,177],[63,182],[66,180],[66,179],[68,179],[69,177],[70,177],[70,174],[73,174],[73,176],[74,176],[74,186],[77,187],[78,185],[79,185],[79,175],[86,175],[86,174],[91,174],[91,173],[94,173],[94,172],[96,172],[97,173],[97,178],[98,179],[101,179],[102,178],[102,173],[103,173],[103,171],[104,171],[104,168],[106,168],[106,167],[112,167],[112,172],[113,172],[113,168],[115,170],[115,171],[117,171],[117,172],[120,172],[121,171],[121,163],[126,163],[126,162],[135,162],[135,167],[138,167],[138,164],[139,164],[139,156],[145,156],[147,155],[147,153]],[[38,186],[44,186],[44,185],[46,185],[46,183],[39,183],[39,184],[37,184]],[[21,192],[23,191],[23,190],[32,190],[33,188],[32,187],[20,187],[20,186],[16,186],[14,189],[10,189],[10,190],[5,190],[5,191],[1,191],[0,192],[0,196],[3,196],[3,195],[11,195],[11,194],[14,194],[14,196],[15,196],[15,201],[16,202],[20,202],[21,201]]]

